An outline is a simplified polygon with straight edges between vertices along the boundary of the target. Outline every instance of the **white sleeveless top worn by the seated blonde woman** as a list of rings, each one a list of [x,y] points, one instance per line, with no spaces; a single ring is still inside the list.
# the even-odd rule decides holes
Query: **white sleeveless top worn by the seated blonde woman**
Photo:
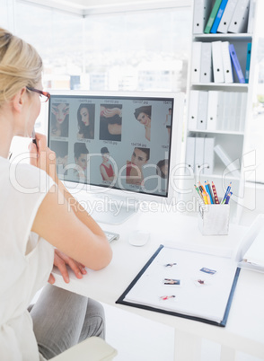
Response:
[[[47,284],[54,250],[31,226],[54,181],[0,157],[0,359],[42,359],[27,307]]]

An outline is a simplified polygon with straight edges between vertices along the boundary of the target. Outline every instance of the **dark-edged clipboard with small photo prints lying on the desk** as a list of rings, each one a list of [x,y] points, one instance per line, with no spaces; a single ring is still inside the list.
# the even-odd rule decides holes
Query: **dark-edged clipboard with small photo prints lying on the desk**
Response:
[[[169,250],[167,250],[167,249],[169,249]],[[176,255],[175,258],[174,258],[174,256],[172,256],[172,258],[170,259],[170,260],[175,259],[175,266],[172,266],[172,268],[175,267],[174,271],[172,271],[171,267],[169,267],[168,269],[165,269],[166,265],[163,264],[164,260],[165,260],[163,257],[164,256],[163,253],[166,253],[166,252],[167,252],[167,254],[174,253]],[[179,275],[182,275],[182,273],[180,274],[179,268],[178,268],[178,270],[176,270],[177,269],[177,260],[180,260],[180,258],[182,258],[183,253],[185,253],[184,255],[186,257],[189,257],[190,260],[200,259],[201,262],[205,262],[205,263],[201,263],[201,264],[205,265],[204,268],[206,268],[207,264],[210,265],[210,267],[211,267],[211,265],[214,262],[216,263],[216,269],[221,267],[222,263],[223,263],[224,268],[226,267],[226,265],[228,263],[230,263],[231,268],[227,271],[225,270],[224,272],[222,272],[222,275],[220,275],[220,276],[219,276],[219,274],[216,275],[216,273],[218,271],[215,274],[210,274],[210,275],[205,273],[205,275],[203,276],[201,269],[198,270],[198,272],[200,272],[200,274],[201,274],[201,278],[208,280],[208,279],[210,279],[210,277],[212,277],[211,278],[212,283],[210,283],[210,281],[207,281],[207,285],[205,286],[205,287],[207,287],[207,292],[205,293],[205,302],[207,302],[207,299],[208,299],[207,295],[210,295],[211,291],[212,291],[213,298],[214,298],[214,295],[216,294],[214,287],[211,287],[211,291],[210,291],[210,286],[214,283],[213,278],[214,277],[218,277],[218,278],[223,277],[223,279],[226,279],[226,287],[224,290],[225,296],[224,296],[223,302],[221,304],[222,311],[223,311],[223,317],[216,319],[214,317],[214,315],[212,315],[213,317],[211,317],[208,314],[204,314],[203,312],[199,313],[197,310],[193,313],[191,309],[188,312],[186,312],[186,309],[185,310],[182,309],[181,304],[177,300],[177,297],[180,298],[180,297],[182,297],[182,295],[188,293],[189,295],[193,294],[192,298],[195,299],[195,297],[198,294],[201,294],[203,292],[203,289],[202,289],[203,286],[198,287],[197,289],[195,287],[191,287],[192,286],[191,282],[193,282],[195,280],[195,277],[197,277],[196,274],[194,275],[194,278],[192,278],[191,280],[186,279],[185,284],[183,284],[183,286],[179,285],[179,288],[177,288],[176,285],[174,286],[173,289],[170,288],[170,286],[168,286],[167,294],[168,295],[175,294],[175,303],[173,304],[173,301],[174,301],[173,300],[172,304],[169,307],[168,307],[168,304],[166,304],[164,306],[164,304],[161,302],[161,300],[159,300],[159,302],[157,302],[157,299],[155,298],[155,299],[153,299],[154,302],[152,302],[151,299],[150,300],[147,300],[147,298],[144,299],[144,295],[143,296],[140,295],[140,293],[141,293],[140,290],[143,290],[143,293],[144,293],[144,285],[145,285],[146,277],[149,277],[152,285],[154,285],[155,280],[159,283],[161,277],[163,278],[164,275],[166,275],[166,274],[171,275],[169,277],[172,277],[172,275],[174,274],[175,277],[180,278],[181,276],[179,276]],[[165,255],[165,257],[166,257],[166,255]],[[218,260],[218,262],[216,262],[216,259]],[[211,260],[212,263],[210,263],[209,260]],[[233,301],[233,295],[235,292],[235,287],[237,285],[238,277],[240,274],[240,268],[237,268],[236,264],[237,264],[237,262],[235,262],[234,260],[230,260],[230,259],[226,259],[226,258],[222,258],[222,257],[218,257],[218,256],[213,256],[211,254],[199,253],[197,251],[172,249],[171,247],[166,247],[163,244],[161,244],[160,247],[157,249],[157,251],[154,252],[154,255],[145,263],[145,266],[143,267],[143,269],[141,269],[139,271],[137,276],[133,279],[133,281],[130,283],[130,285],[124,291],[124,293],[122,295],[120,295],[119,299],[116,301],[116,304],[125,304],[128,306],[141,308],[141,309],[145,309],[145,310],[149,310],[149,311],[153,311],[153,312],[170,314],[172,316],[187,318],[189,320],[201,321],[201,322],[205,322],[208,324],[224,327],[226,325],[226,322],[228,319],[228,315],[229,315],[232,301]],[[162,269],[164,271],[164,273],[162,275],[160,274],[159,267],[160,267],[160,269]],[[194,267],[196,267],[196,266],[194,266]],[[209,269],[209,270],[213,271],[213,269]],[[187,278],[191,274],[192,270],[189,270],[189,271],[190,272],[189,272]],[[175,272],[175,273],[173,273],[173,272]],[[218,273],[221,274],[221,272],[218,272]],[[177,279],[175,279],[175,277],[173,279],[176,281]],[[227,277],[228,277],[228,281],[227,281]],[[219,278],[218,284],[221,284],[221,283],[223,284],[222,280]],[[194,285],[194,286],[196,286],[196,285]],[[160,291],[160,289],[163,289],[164,287],[165,287],[165,285],[161,286],[160,283],[157,286],[157,289],[159,289],[158,292],[160,292],[161,295],[163,294],[163,292]],[[136,290],[136,288],[137,288],[137,290]],[[131,293],[133,294],[133,290],[136,290],[136,293],[134,292],[134,295],[131,298],[130,294]],[[138,290],[139,290],[139,292],[138,292]],[[196,295],[196,290],[198,290],[197,295]],[[149,293],[149,290],[146,290],[145,293],[146,294]],[[137,298],[135,297],[135,295],[137,295],[136,296]],[[219,295],[215,295],[215,298],[217,298],[217,297],[219,298]],[[184,297],[182,297],[182,299],[184,300]],[[201,299],[203,299],[203,298],[201,297]],[[212,304],[212,302],[214,302],[214,300],[211,301],[211,304]],[[208,301],[208,304],[210,304],[210,301]],[[204,304],[203,306],[205,306],[205,307],[202,307],[202,309],[207,308],[207,304]],[[214,307],[213,307],[213,309],[214,309]],[[221,311],[220,311],[220,313],[221,313]]]

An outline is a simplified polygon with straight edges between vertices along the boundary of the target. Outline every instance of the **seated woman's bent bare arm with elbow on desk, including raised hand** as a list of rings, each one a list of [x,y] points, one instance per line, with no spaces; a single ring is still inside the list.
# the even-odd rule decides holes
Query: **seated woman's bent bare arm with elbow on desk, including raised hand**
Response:
[[[57,186],[49,189],[43,199],[32,231],[90,269],[106,267],[112,252],[101,227],[57,179],[55,154],[48,149],[46,137],[37,134],[36,139],[38,158],[31,163],[35,162],[34,165],[42,167],[56,181]],[[31,145],[31,154],[34,148],[35,145]]]

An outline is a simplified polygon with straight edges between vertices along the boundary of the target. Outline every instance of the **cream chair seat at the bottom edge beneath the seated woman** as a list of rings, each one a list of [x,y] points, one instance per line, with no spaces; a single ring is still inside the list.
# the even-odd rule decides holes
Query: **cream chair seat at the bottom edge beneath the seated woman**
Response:
[[[52,361],[111,361],[117,350],[99,337],[91,337],[67,349]]]

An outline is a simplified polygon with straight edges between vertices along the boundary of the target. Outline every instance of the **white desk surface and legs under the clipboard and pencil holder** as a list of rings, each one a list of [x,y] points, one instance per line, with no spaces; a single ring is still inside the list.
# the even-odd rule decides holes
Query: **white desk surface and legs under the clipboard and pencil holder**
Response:
[[[235,350],[264,359],[264,274],[242,269],[225,328],[115,304],[159,244],[173,240],[201,248],[210,246],[217,254],[231,255],[247,232],[246,227],[230,225],[228,236],[202,236],[196,217],[164,212],[138,213],[123,225],[101,226],[120,234],[119,241],[112,242],[110,266],[100,271],[89,270],[81,280],[73,275],[68,285],[56,274],[57,286],[172,326],[175,329],[175,360],[199,360],[201,338],[221,343],[221,360],[234,360]],[[151,233],[150,241],[143,247],[128,243],[129,233],[136,228]]]

